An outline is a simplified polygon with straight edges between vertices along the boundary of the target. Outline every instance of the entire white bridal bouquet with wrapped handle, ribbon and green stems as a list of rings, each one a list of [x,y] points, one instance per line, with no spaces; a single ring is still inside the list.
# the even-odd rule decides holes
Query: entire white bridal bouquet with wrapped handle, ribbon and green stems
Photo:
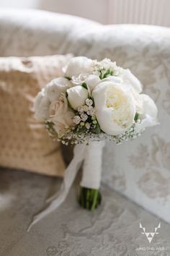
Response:
[[[69,61],[63,77],[52,80],[37,94],[35,116],[44,122],[50,137],[76,146],[60,194],[50,199],[50,206],[35,221],[63,202],[82,161],[79,202],[83,208],[97,208],[102,198],[104,142],[133,140],[146,127],[157,124],[156,105],[141,92],[140,81],[129,69],[117,67],[110,59],[80,56]]]

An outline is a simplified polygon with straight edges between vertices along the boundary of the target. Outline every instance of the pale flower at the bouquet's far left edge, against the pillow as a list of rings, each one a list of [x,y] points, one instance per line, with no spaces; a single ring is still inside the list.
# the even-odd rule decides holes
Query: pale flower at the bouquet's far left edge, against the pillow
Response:
[[[44,89],[35,97],[34,109],[35,117],[40,121],[45,121],[49,117],[50,101],[45,96]]]

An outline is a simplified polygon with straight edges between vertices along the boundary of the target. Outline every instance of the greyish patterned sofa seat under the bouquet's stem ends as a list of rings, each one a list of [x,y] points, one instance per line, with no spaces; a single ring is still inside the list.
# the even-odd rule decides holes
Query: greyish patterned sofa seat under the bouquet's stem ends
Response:
[[[170,226],[111,189],[102,187],[102,205],[90,212],[79,207],[72,187],[63,205],[27,232],[32,216],[61,181],[0,168],[0,187],[1,256],[170,255]],[[146,232],[161,223],[151,244],[141,234],[140,222]]]

